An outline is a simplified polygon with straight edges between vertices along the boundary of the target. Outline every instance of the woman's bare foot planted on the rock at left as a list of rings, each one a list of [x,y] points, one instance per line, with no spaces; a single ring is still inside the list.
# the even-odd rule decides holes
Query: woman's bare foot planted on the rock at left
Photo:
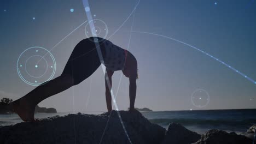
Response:
[[[25,122],[35,122],[34,119],[34,109],[35,106],[30,105],[27,103],[24,99],[19,99],[13,101],[13,103],[10,104],[10,109],[17,113],[20,118]]]

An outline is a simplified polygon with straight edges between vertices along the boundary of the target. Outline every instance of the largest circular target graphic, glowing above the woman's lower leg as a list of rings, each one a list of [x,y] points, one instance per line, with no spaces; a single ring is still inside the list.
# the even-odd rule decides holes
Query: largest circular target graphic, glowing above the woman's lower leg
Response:
[[[53,78],[56,61],[50,51],[34,46],[23,51],[17,61],[20,79],[31,86],[39,86]]]

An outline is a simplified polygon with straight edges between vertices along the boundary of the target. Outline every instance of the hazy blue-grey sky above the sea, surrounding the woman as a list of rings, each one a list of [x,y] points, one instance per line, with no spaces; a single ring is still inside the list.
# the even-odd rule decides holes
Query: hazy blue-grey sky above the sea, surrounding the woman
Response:
[[[42,73],[42,79],[51,74],[54,79],[74,46],[88,38],[88,22],[82,0],[0,2],[0,98],[16,100],[35,88],[21,79],[18,60],[28,61],[30,74],[45,70],[34,71],[29,65],[33,52],[26,50],[39,46],[50,51],[56,72]],[[136,107],[154,111],[256,108],[254,1],[89,0],[89,4],[92,18],[106,24],[97,24],[101,34],[137,59]],[[49,54],[45,63],[54,64]],[[25,79],[34,81],[31,76]],[[119,110],[127,110],[129,79],[121,71],[113,75],[113,92]],[[59,112],[107,111],[104,94],[99,67],[79,85],[39,106]]]

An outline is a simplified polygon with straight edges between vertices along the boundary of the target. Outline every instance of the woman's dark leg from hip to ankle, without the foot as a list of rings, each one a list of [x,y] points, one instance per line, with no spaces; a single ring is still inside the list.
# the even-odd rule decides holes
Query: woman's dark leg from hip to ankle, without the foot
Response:
[[[101,65],[95,47],[95,43],[88,39],[80,41],[69,57],[61,76],[43,83],[22,98],[36,106],[51,95],[65,91],[87,79]]]

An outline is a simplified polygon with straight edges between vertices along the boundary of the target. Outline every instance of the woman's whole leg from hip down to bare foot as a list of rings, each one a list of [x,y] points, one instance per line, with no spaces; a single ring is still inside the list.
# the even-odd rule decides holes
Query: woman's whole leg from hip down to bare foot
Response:
[[[10,109],[18,113],[23,121],[34,121],[34,108],[40,101],[78,85],[78,83],[87,79],[101,65],[96,49],[92,50],[93,47],[87,48],[87,46],[87,43],[79,43],[75,46],[61,76],[43,83],[24,97],[15,100],[10,105]],[[90,51],[90,53],[78,57],[86,51]]]

